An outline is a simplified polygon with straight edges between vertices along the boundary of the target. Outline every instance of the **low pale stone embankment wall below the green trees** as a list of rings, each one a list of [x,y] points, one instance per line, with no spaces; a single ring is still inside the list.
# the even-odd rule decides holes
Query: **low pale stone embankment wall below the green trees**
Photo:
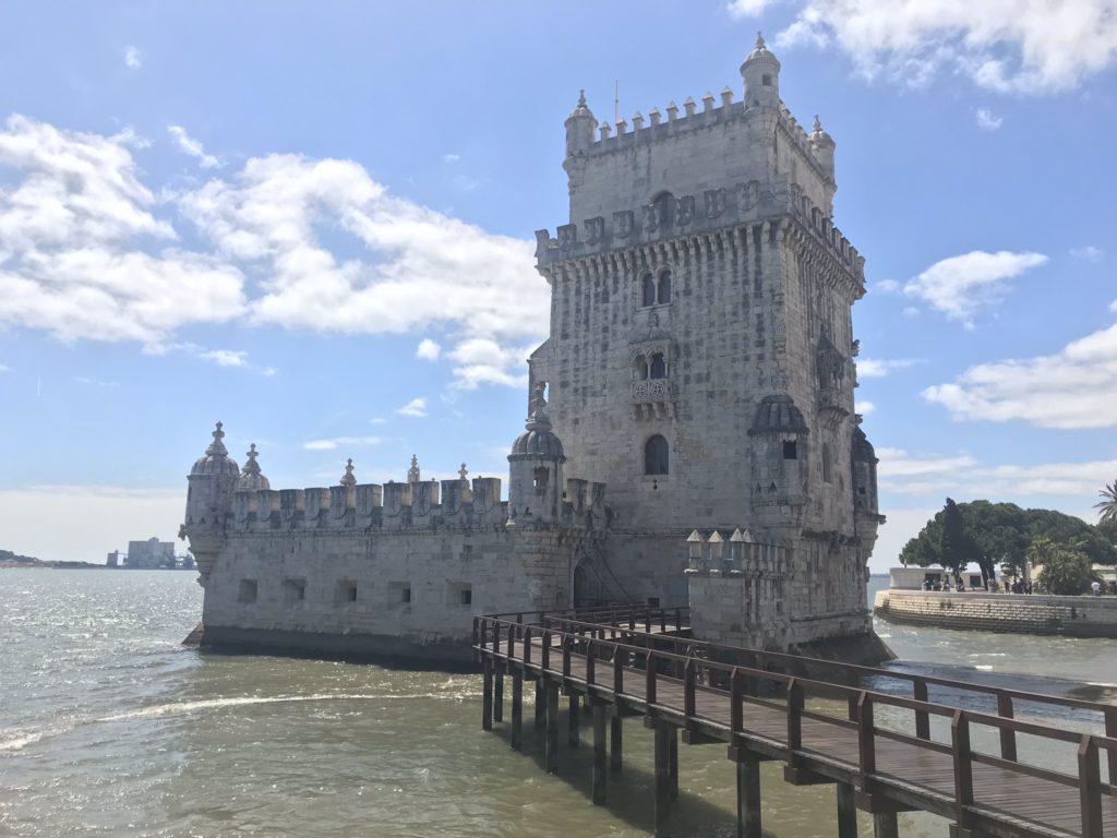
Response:
[[[1117,597],[878,591],[878,617],[941,628],[1117,637]]]

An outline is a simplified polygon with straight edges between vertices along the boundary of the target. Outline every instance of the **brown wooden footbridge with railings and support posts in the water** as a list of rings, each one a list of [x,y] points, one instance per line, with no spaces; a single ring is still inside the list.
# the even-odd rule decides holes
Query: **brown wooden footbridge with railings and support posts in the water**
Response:
[[[580,742],[575,711],[585,702],[592,799],[603,804],[608,777],[623,761],[621,718],[641,716],[655,737],[657,836],[667,835],[678,796],[681,737],[689,745],[727,745],[736,763],[738,838],[761,836],[760,763],[772,760],[783,762],[789,783],[836,785],[840,838],[857,836],[858,810],[872,816],[877,838],[896,836],[897,813],[915,810],[949,819],[952,838],[1117,838],[1117,706],[716,646],[688,634],[686,609],[479,617],[481,726],[504,720],[509,678],[510,741],[521,749],[524,683],[534,684],[534,724],[545,731],[545,765],[554,773],[560,693],[571,710],[567,746]],[[895,694],[900,688],[910,697]],[[929,699],[932,692],[938,701]],[[817,708],[817,699],[830,701]],[[833,706],[842,711],[825,708]],[[1067,710],[1096,723],[1096,731],[1051,723],[1052,711]],[[888,725],[885,715],[906,723]],[[948,724],[948,741],[932,736],[933,717]],[[997,753],[971,742],[978,729],[995,731]],[[1018,734],[1076,749],[1077,773],[1019,759]]]

